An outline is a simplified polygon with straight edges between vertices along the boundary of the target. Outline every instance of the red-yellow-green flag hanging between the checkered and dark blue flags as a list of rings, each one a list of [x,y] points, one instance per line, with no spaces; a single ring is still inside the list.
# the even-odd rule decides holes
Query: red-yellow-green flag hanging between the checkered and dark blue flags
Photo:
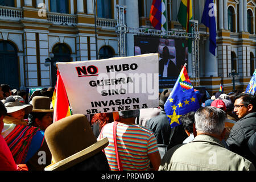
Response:
[[[187,33],[192,32],[191,26],[189,26],[189,20],[193,18],[192,11],[192,0],[181,0],[179,13],[177,14],[177,19],[180,24],[185,28]],[[188,39],[188,52],[191,53],[192,50],[192,40]]]

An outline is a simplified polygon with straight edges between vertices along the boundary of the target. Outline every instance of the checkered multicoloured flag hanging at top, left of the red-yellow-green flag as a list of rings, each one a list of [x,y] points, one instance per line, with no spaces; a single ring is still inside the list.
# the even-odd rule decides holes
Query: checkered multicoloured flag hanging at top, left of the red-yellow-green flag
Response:
[[[150,9],[150,22],[156,30],[167,30],[166,5],[163,0],[153,0]]]

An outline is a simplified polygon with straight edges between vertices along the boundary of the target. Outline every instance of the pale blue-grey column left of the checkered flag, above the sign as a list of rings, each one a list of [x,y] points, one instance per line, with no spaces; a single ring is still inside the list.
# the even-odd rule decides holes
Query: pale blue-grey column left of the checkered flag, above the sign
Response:
[[[139,27],[139,10],[137,0],[126,0],[127,27]],[[134,55],[134,35],[127,34],[127,56]]]

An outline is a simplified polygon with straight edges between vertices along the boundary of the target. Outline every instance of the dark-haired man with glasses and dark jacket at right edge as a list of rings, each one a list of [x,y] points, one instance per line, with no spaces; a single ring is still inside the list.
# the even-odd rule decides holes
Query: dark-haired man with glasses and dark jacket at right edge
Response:
[[[239,120],[230,131],[226,140],[231,151],[256,164],[255,155],[250,151],[247,141],[256,132],[256,98],[255,95],[242,93],[235,97],[234,113]]]

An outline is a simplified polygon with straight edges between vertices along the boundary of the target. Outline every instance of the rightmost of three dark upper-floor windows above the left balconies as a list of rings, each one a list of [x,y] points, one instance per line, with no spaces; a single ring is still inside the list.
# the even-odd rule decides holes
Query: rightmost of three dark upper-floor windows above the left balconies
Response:
[[[113,18],[111,2],[112,2],[111,0],[98,0],[97,1],[97,16],[98,17]]]

